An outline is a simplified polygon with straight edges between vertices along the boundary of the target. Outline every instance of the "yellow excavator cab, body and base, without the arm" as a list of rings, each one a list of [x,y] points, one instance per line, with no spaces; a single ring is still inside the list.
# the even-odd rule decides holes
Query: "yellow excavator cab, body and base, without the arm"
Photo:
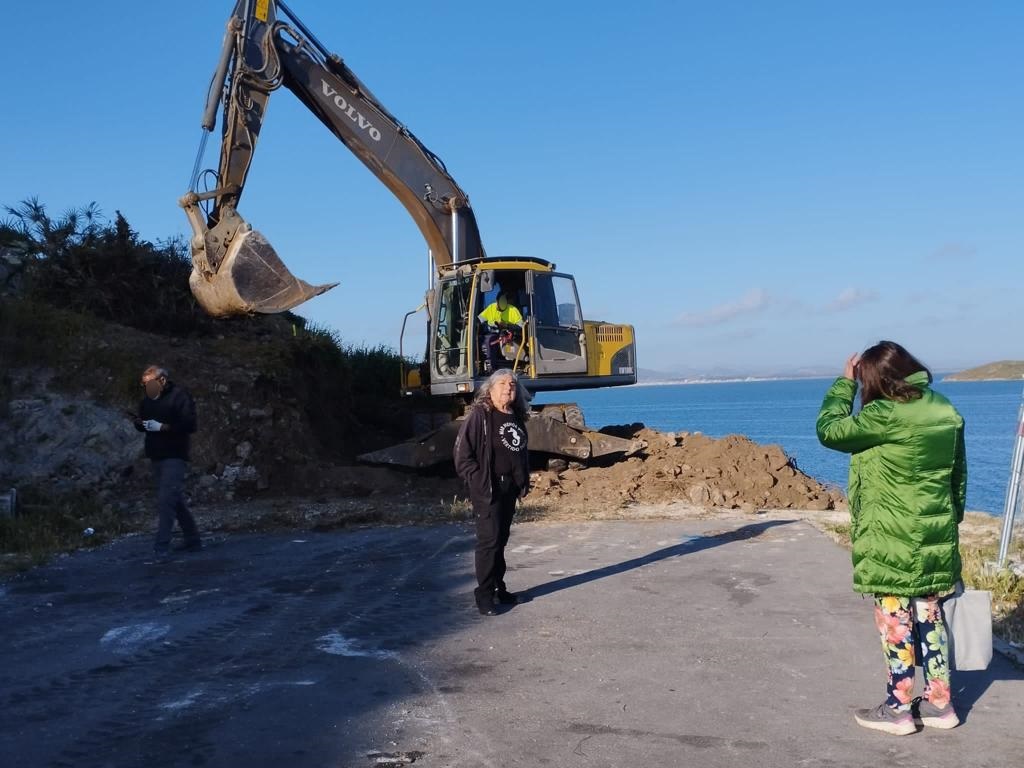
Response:
[[[480,314],[499,294],[516,311],[508,312],[514,323],[496,334]],[[572,275],[556,272],[548,261],[481,258],[441,267],[426,308],[427,357],[425,365],[403,371],[406,394],[451,395],[464,406],[501,368],[515,371],[528,392],[636,383],[633,327],[584,321]],[[485,313],[483,319],[493,317]],[[490,343],[499,346],[488,355]],[[358,458],[404,467],[438,464],[451,457],[459,424],[442,424]],[[632,456],[646,445],[590,429],[573,403],[532,408],[526,431],[531,454],[578,461]]]

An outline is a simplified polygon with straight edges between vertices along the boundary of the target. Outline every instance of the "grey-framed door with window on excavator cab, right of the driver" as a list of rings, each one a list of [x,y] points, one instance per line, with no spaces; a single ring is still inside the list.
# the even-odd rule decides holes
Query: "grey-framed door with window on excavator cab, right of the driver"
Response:
[[[575,281],[557,272],[529,275],[537,375],[587,373],[587,339]]]

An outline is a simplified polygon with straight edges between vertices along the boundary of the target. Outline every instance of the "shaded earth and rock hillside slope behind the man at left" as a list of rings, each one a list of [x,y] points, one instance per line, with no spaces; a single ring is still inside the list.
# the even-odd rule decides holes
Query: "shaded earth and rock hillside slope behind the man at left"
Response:
[[[326,465],[350,463],[414,428],[393,381],[388,387],[396,360],[391,370],[387,359],[346,353],[330,336],[281,316],[181,338],[8,298],[0,329],[8,362],[0,383],[0,484],[71,489],[115,479],[124,485],[139,474],[142,436],[127,413],[137,411],[138,377],[153,362],[196,398],[201,497],[316,493],[331,476]]]

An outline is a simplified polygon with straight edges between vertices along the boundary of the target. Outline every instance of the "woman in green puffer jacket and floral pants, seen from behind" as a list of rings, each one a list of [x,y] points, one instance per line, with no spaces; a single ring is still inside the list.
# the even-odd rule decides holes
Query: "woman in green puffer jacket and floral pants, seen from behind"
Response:
[[[853,413],[857,383],[861,410]],[[948,641],[939,600],[961,578],[964,419],[912,354],[882,341],[847,360],[818,414],[822,445],[851,454],[853,588],[874,595],[874,623],[889,670],[888,695],[857,722],[897,735],[916,724],[954,728]],[[914,658],[914,641],[923,658]],[[913,699],[914,663],[925,694]]]

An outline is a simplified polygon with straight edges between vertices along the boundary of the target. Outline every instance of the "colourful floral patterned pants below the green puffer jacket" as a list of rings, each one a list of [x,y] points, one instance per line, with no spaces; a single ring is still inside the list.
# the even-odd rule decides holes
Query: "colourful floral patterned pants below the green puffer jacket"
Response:
[[[914,646],[925,671],[925,698],[939,708],[949,703],[949,641],[937,595],[874,596],[874,625],[889,668],[886,706],[906,712],[913,700]]]

